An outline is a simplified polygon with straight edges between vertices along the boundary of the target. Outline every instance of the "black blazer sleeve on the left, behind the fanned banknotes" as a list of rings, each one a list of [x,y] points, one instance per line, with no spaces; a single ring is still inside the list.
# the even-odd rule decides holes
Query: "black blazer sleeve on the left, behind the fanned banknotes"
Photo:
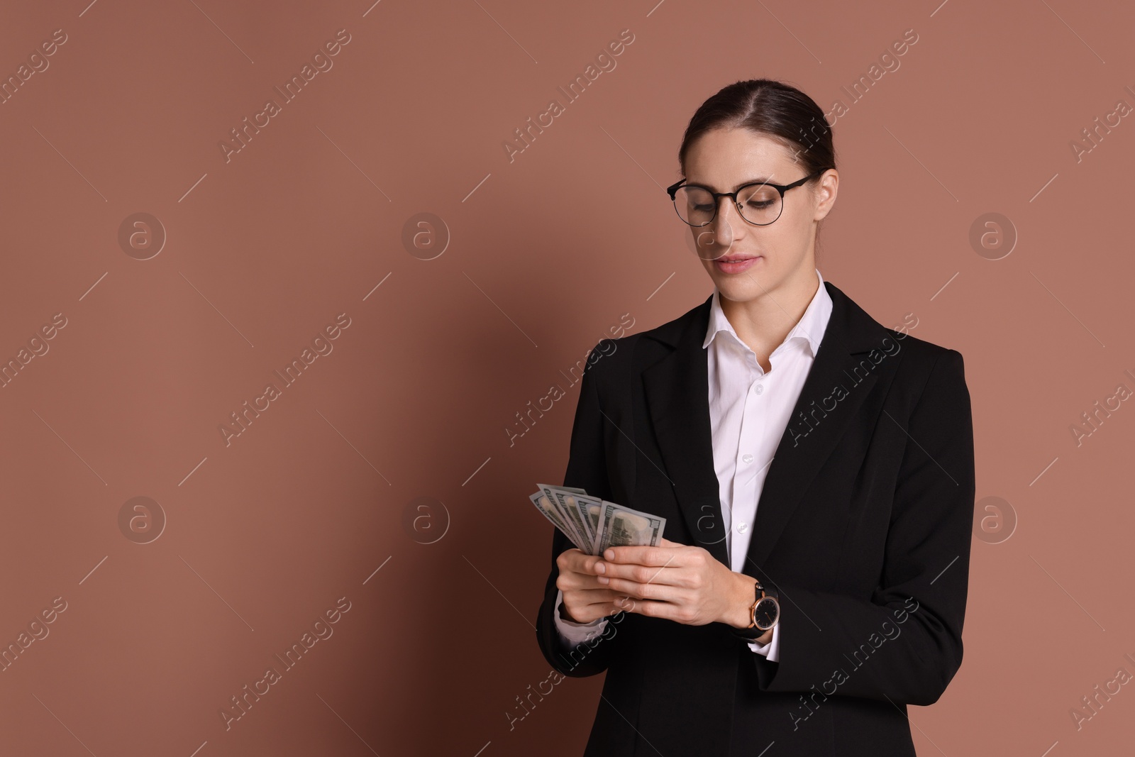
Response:
[[[595,354],[595,350],[591,353]],[[575,405],[575,420],[571,431],[568,470],[564,472],[563,485],[579,487],[594,497],[609,499],[611,483],[607,479],[603,443],[604,418],[599,411],[595,364],[597,363],[588,362],[580,378],[579,402]],[[544,602],[536,619],[536,637],[540,651],[553,667],[564,675],[582,678],[596,675],[607,668],[611,646],[607,639],[614,636],[616,629],[608,622],[604,633],[574,648],[568,647],[556,632],[555,620],[552,616],[556,612],[555,603],[558,594],[556,579],[560,577],[560,570],[556,566],[556,557],[574,546],[560,532],[560,529],[552,529],[552,570],[544,588]]]

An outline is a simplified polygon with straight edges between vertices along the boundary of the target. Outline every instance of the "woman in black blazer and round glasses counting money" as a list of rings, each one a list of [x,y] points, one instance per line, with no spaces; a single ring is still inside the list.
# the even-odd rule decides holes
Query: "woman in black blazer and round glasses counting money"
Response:
[[[564,474],[667,538],[592,556],[556,532],[540,648],[606,672],[587,755],[914,755],[907,705],[961,664],[961,355],[821,278],[839,173],[806,94],[724,87],[679,162],[714,293],[588,368]]]

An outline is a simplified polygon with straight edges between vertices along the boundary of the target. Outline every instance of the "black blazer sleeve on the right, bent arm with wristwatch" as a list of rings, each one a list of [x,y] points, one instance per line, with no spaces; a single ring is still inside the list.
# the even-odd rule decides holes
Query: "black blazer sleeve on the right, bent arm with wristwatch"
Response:
[[[780,661],[753,655],[760,689],[931,705],[960,667],[975,481],[959,352],[939,354],[903,431],[880,586],[866,600],[777,583]]]

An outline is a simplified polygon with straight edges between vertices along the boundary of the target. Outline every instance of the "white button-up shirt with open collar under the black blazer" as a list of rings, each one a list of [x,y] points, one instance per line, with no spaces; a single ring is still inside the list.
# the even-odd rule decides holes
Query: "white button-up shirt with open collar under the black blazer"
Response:
[[[730,570],[743,572],[745,556],[753,536],[757,502],[773,453],[780,444],[796,401],[804,388],[819,342],[832,314],[832,298],[824,277],[816,270],[819,286],[804,316],[768,356],[766,372],[757,356],[737,336],[721,309],[721,294],[714,289],[709,326],[703,347],[709,373],[709,422],[713,431],[713,459],[717,473],[725,546]],[[574,647],[603,632],[600,617],[591,623],[573,623],[560,617],[563,591],[556,592],[553,613],[563,641]],[[749,644],[753,651],[771,662],[780,659],[780,623],[773,626],[768,644]]]

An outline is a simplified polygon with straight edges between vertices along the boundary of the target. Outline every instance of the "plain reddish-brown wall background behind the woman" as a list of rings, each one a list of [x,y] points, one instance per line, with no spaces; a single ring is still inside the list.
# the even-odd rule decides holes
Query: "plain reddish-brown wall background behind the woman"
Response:
[[[818,267],[964,354],[978,514],[1008,503],[975,528],[965,663],[910,709],[919,754],[1130,749],[1130,685],[1069,715],[1135,673],[1135,409],[1078,447],[1069,430],[1135,388],[1135,123],[1070,148],[1135,104],[1129,5],[86,2],[0,19],[5,79],[67,36],[0,104],[0,360],[67,323],[0,388],[0,644],[67,606],[0,672],[0,752],[579,754],[600,678],[507,715],[549,673],[550,531],[526,495],[561,480],[578,385],[505,429],[623,313],[644,330],[711,293],[662,187],[697,106],[758,76],[848,106]],[[513,129],[625,28],[616,68],[510,162]],[[334,67],[226,162],[338,30]],[[167,235],[149,260],[118,242],[136,212]],[[402,241],[422,212],[451,237],[432,260]],[[989,212],[1018,237],[999,260],[969,241]],[[334,351],[226,445],[339,313]],[[137,496],[166,519],[149,544],[119,527]],[[226,730],[340,597],[334,636]]]

